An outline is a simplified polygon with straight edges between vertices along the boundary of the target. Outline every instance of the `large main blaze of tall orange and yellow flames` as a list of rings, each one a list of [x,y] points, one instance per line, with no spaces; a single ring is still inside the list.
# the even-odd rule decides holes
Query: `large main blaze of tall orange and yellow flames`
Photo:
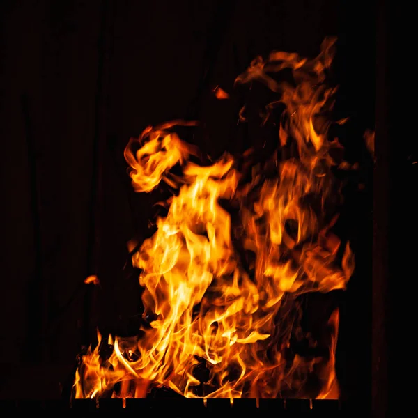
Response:
[[[342,150],[329,139],[326,118],[335,92],[325,84],[333,47],[334,39],[325,40],[311,60],[273,52],[236,79],[277,93],[263,123],[284,107],[279,149],[264,164],[252,165],[251,152],[243,162],[228,153],[210,166],[192,162],[199,150],[175,133],[192,122],[148,127],[130,140],[125,159],[134,189],[151,192],[163,181],[176,193],[132,256],[148,326],[136,338],[109,336],[107,355],[98,334],[77,370],[77,398],[143,397],[158,386],[203,398],[338,397],[338,310],[324,324],[327,353],[291,350],[294,338],[317,344],[300,325],[300,295],[344,289],[354,269],[349,244],[332,233],[341,203],[332,171],[341,161],[333,155]],[[274,78],[284,68],[294,84]],[[314,392],[307,389],[311,376]]]

